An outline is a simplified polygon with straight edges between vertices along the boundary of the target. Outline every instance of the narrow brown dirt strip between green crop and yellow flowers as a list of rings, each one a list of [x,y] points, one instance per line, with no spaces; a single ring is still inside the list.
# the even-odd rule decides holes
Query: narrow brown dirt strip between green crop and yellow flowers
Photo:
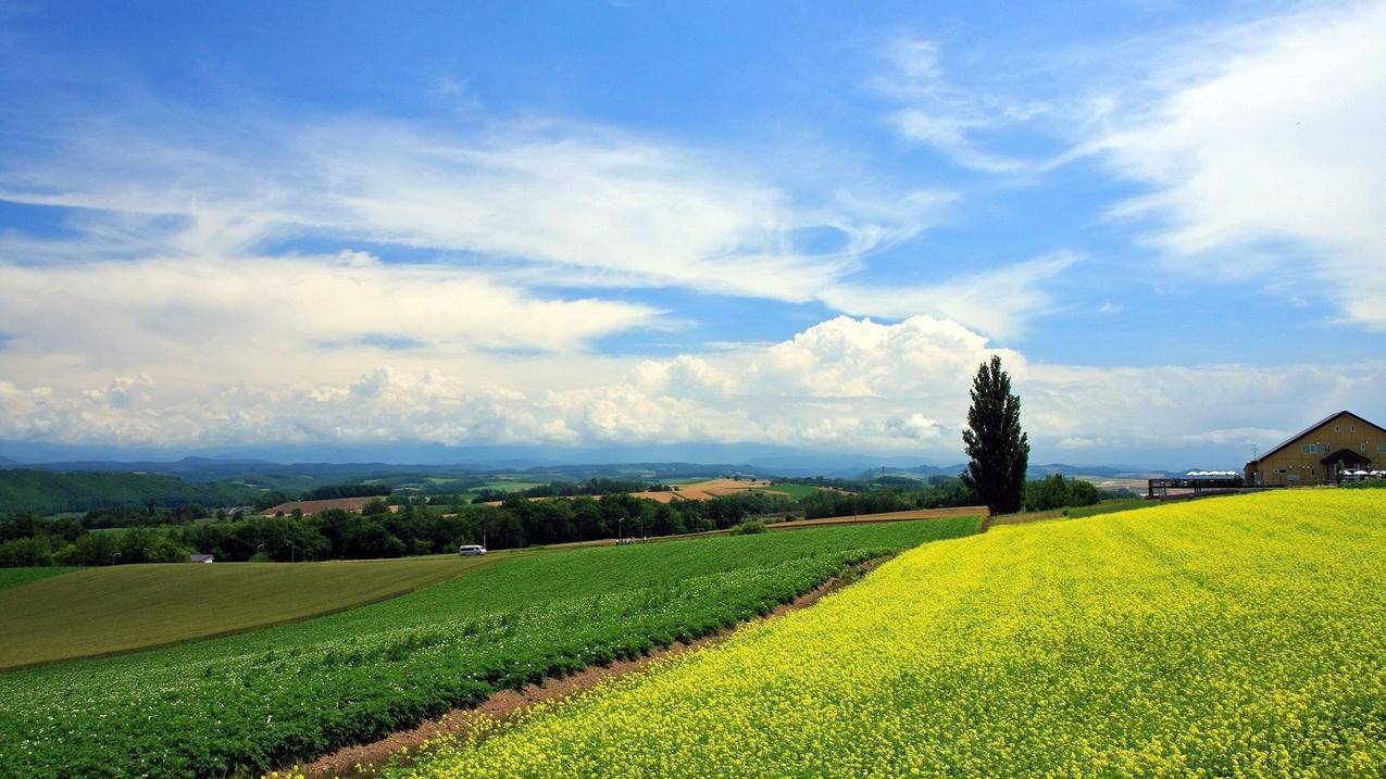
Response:
[[[829,592],[833,592],[839,588],[852,584],[854,581],[861,578],[862,574],[880,566],[887,559],[888,557],[877,557],[875,560],[869,560],[861,566],[857,566],[855,568],[851,568],[845,574],[827,579],[826,582],[818,585],[812,590],[805,592],[804,595],[796,597],[793,602],[776,606],[775,610],[772,610],[765,617],[757,617],[755,620],[740,622],[739,625],[728,628],[719,633],[704,636],[692,643],[675,642],[668,647],[657,649],[646,654],[644,657],[640,657],[639,660],[618,660],[607,667],[593,665],[570,676],[564,676],[561,679],[547,679],[542,685],[529,685],[523,690],[500,690],[488,697],[485,701],[482,701],[481,706],[477,706],[474,708],[455,708],[437,719],[430,719],[428,722],[424,722],[417,728],[409,730],[401,730],[398,733],[385,736],[378,742],[340,749],[333,754],[323,755],[315,760],[313,762],[299,767],[299,771],[308,779],[333,779],[333,778],[365,779],[369,776],[374,776],[376,771],[373,769],[373,767],[384,764],[387,760],[389,760],[389,755],[398,753],[405,747],[407,747],[409,751],[414,751],[426,740],[438,737],[444,733],[453,733],[457,736],[464,735],[467,730],[467,715],[486,714],[489,717],[503,719],[527,706],[560,697],[567,697],[574,693],[590,689],[595,685],[604,682],[606,679],[624,676],[626,674],[633,674],[636,671],[643,671],[650,665],[650,663],[661,657],[683,654],[686,651],[693,651],[697,649],[703,649],[705,646],[721,643],[726,640],[733,632],[746,625],[761,622],[765,620],[772,620],[787,611],[794,611],[798,609],[812,606],[814,603],[818,602],[818,599],[823,597]]]

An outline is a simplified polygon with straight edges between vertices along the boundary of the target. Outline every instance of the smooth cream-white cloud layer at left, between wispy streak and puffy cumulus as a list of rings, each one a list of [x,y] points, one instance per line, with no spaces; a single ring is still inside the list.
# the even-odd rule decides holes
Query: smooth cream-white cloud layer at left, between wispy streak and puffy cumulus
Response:
[[[383,263],[360,252],[236,262],[0,262],[7,359],[68,353],[141,370],[176,362],[209,378],[295,370],[290,356],[323,348],[571,351],[656,315],[625,302],[545,299],[481,273]]]

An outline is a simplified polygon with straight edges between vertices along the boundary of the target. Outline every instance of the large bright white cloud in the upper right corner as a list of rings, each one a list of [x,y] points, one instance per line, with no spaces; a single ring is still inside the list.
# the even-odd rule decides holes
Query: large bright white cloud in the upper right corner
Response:
[[[1328,290],[1342,317],[1386,329],[1386,4],[1221,30],[1177,50],[1159,94],[1109,100],[1091,148],[1153,190],[1121,216],[1163,226],[1185,268]],[[1145,96],[1149,90],[1138,90]]]

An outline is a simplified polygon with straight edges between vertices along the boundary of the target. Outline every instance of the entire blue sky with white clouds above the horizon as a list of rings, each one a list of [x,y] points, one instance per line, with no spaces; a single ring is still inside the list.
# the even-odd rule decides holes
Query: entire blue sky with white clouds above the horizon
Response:
[[[955,463],[1001,355],[1033,462],[1238,467],[1386,419],[1382,51],[1386,3],[0,0],[0,453]]]

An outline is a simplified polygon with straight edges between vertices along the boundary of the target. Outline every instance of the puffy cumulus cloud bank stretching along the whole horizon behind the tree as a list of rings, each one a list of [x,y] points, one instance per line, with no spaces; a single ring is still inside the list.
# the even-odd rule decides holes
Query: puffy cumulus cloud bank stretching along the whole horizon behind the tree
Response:
[[[1386,363],[1085,367],[1026,360],[948,320],[836,317],[786,341],[626,363],[561,363],[536,388],[474,365],[355,366],[215,384],[118,374],[93,387],[0,381],[0,439],[123,445],[726,442],[959,456],[977,365],[1001,355],[1037,452],[1110,459],[1160,446],[1270,445],[1322,408],[1362,408]],[[538,370],[560,370],[536,358]],[[600,360],[590,356],[586,360]],[[582,377],[590,377],[582,381]],[[1314,398],[1314,409],[1304,408]],[[1356,405],[1354,405],[1356,402]],[[1267,421],[1272,424],[1268,426]],[[1275,427],[1275,426],[1283,427]],[[1109,460],[1110,462],[1110,460]]]

